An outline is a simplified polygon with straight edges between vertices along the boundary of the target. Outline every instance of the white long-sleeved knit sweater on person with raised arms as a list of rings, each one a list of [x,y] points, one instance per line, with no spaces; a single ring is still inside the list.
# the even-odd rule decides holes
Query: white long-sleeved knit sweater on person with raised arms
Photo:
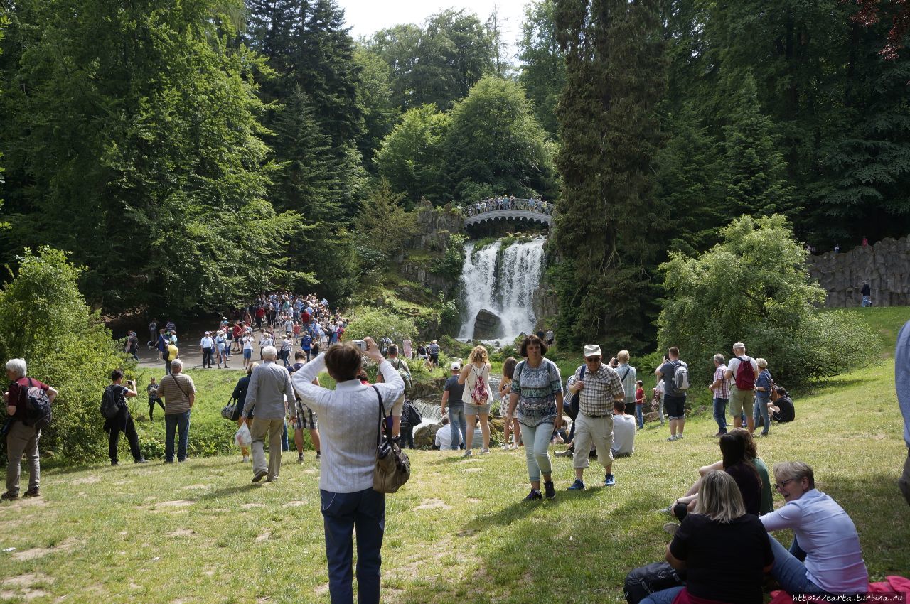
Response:
[[[376,444],[379,437],[379,398],[372,386],[359,379],[339,382],[334,390],[314,386],[326,367],[325,353],[295,371],[291,383],[298,397],[319,415],[322,468],[319,488],[334,493],[355,493],[373,486]],[[388,360],[379,371],[385,383],[375,384],[386,415],[404,392],[404,380]]]

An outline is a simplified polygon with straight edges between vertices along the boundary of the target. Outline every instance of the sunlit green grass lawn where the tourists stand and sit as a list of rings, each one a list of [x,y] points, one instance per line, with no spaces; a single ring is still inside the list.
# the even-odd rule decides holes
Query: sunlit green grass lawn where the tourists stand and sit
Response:
[[[883,328],[896,332],[898,318]],[[871,579],[910,574],[891,362],[795,404],[797,420],[760,440],[762,457],[814,466],[818,487],[854,518]],[[665,442],[666,428],[649,425],[635,455],[614,464],[612,488],[567,492],[571,459],[555,459],[557,497],[532,504],[521,501],[523,451],[467,460],[414,451],[410,482],[387,498],[383,601],[624,601],[625,574],[662,559],[669,540],[657,510],[719,458],[715,431],[705,415],[684,440]],[[328,601],[319,464],[295,458],[285,454],[268,485],[250,484],[238,455],[45,471],[43,498],[0,505],[0,601]],[[592,462],[589,485],[600,477]]]

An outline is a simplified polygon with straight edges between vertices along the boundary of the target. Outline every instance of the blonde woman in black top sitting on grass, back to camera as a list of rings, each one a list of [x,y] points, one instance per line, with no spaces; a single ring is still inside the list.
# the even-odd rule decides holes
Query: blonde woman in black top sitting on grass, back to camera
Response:
[[[746,513],[736,481],[723,470],[702,478],[695,511],[676,530],[666,560],[686,571],[685,587],[657,591],[642,604],[762,604],[764,573],[774,564],[761,520]]]

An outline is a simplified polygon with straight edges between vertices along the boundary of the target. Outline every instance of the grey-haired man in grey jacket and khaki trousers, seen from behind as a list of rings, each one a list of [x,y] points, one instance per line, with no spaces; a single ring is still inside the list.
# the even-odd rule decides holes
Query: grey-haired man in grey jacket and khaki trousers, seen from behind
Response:
[[[253,369],[249,376],[247,402],[240,414],[241,421],[255,409],[249,433],[253,437],[253,482],[266,478],[266,482],[278,479],[281,468],[281,433],[284,418],[288,415],[288,403],[294,403],[294,388],[290,385],[288,369],[275,364],[278,350],[274,346],[262,348],[262,365]],[[266,467],[265,441],[268,436],[268,468]]]

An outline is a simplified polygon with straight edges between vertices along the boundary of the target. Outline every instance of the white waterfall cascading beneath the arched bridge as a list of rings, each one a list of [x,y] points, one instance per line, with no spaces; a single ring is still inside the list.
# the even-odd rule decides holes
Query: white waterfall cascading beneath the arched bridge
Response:
[[[523,333],[531,333],[536,317],[531,297],[540,285],[543,265],[544,237],[514,243],[500,253],[501,241],[474,251],[474,244],[465,244],[464,266],[461,268],[461,287],[465,321],[459,338],[474,339],[477,313],[486,309],[500,318],[503,344]]]

